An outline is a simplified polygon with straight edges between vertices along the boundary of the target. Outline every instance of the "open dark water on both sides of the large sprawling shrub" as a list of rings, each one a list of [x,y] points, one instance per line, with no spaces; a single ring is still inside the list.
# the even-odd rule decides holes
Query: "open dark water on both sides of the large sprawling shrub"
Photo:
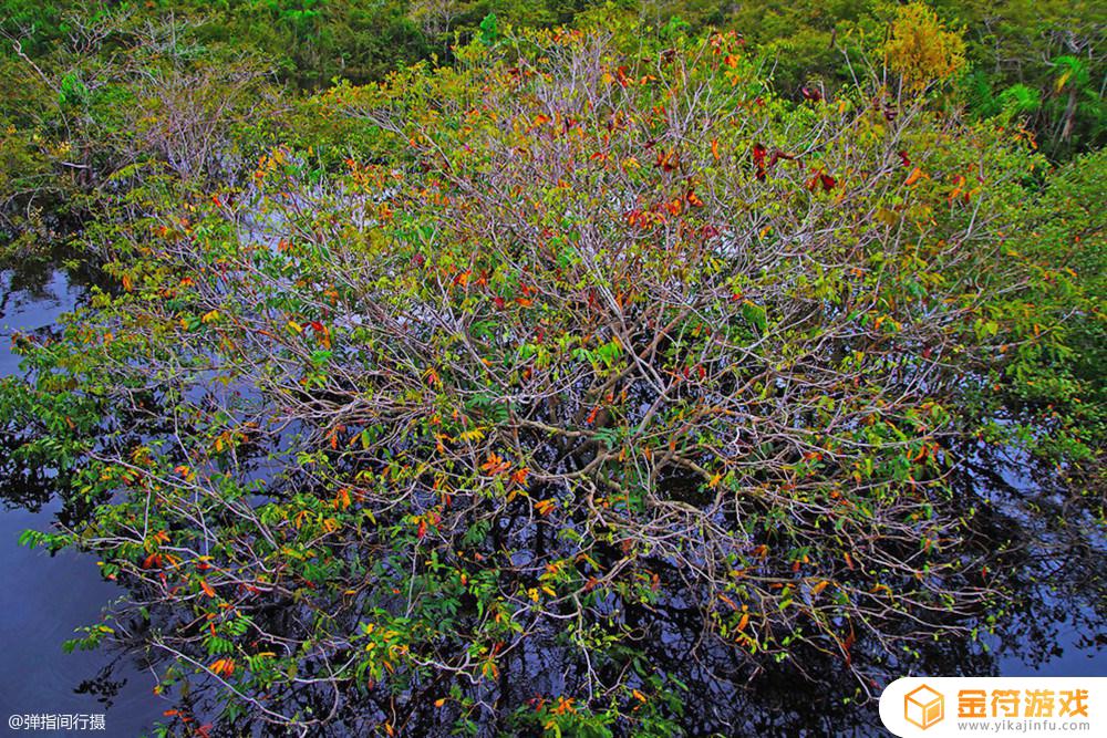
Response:
[[[18,357],[9,350],[11,332],[50,330],[84,294],[74,280],[80,282],[79,277],[46,266],[0,271],[0,376],[19,373]],[[1104,591],[1101,562],[1107,545],[1098,523],[1086,513],[1074,513],[1069,530],[1058,527],[1056,520],[1065,517],[1064,489],[1052,489],[1047,478],[1023,471],[1018,458],[999,466],[995,459],[987,464],[992,491],[984,497],[1002,510],[997,517],[1008,532],[1030,541],[1026,603],[1007,616],[1008,624],[999,636],[985,640],[986,652],[953,647],[927,663],[929,672],[915,673],[1107,675],[1103,603],[1097,600]],[[101,607],[124,594],[123,590],[103,581],[95,560],[87,555],[51,557],[43,550],[18,547],[23,530],[49,530],[61,503],[42,489],[20,488],[10,479],[0,484],[7,485],[0,489],[0,718],[6,724],[12,714],[104,713],[106,735],[143,734],[172,707],[152,693],[153,674],[143,671],[133,656],[102,651],[64,654],[61,647],[75,627],[96,623]],[[1052,512],[1042,516],[1042,510]],[[828,714],[823,695],[824,688],[816,684],[765,678],[735,699],[749,710],[752,732],[792,734],[785,726],[806,726],[815,735],[882,734],[875,704],[839,704]],[[785,713],[787,717],[778,717]],[[14,734],[7,725],[4,730],[46,735]]]

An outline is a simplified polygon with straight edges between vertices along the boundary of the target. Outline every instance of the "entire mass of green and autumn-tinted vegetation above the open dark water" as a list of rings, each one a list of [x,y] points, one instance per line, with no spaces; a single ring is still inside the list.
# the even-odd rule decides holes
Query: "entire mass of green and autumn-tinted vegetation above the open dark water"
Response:
[[[986,449],[1103,523],[1096,3],[2,7],[0,468],[167,734],[730,735],[1002,622]]]

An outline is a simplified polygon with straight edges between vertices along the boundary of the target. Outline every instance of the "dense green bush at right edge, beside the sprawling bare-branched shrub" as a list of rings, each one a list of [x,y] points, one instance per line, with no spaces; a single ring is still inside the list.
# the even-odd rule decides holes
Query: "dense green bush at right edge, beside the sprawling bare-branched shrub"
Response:
[[[1020,422],[989,428],[993,438],[1031,439],[1058,460],[1093,467],[1107,399],[1100,376],[1107,224],[1095,205],[1105,175],[1101,152],[1078,157],[1049,178],[1042,197],[1020,212],[1017,229],[1005,235],[1010,258],[1034,263],[1039,277],[1032,292],[997,304],[1017,316],[1006,347],[1015,358],[992,376],[1004,383],[1003,404]]]

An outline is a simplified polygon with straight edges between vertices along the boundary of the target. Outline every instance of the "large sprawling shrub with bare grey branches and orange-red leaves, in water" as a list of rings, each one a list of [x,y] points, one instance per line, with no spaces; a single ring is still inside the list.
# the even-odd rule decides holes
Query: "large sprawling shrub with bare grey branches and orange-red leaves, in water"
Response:
[[[121,293],[24,346],[20,410],[101,503],[37,541],[132,588],[86,643],[148,621],[228,721],[668,735],[704,672],[868,685],[997,604],[953,471],[1045,289],[1000,236],[1041,163],[924,97],[784,104],[735,35],[635,50],[337,87],[341,175],[276,147],[108,231]]]

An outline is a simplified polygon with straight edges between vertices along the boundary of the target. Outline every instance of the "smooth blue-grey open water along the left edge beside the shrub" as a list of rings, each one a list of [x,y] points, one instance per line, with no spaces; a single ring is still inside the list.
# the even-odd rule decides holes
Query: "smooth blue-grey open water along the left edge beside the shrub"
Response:
[[[54,269],[0,272],[0,376],[19,372],[10,346],[12,331],[48,330],[74,308],[84,291]],[[50,530],[61,510],[56,498],[0,488],[0,720],[13,714],[106,714],[108,736],[138,736],[168,707],[153,695],[153,675],[123,655],[65,654],[62,642],[74,628],[99,622],[101,607],[123,591],[104,581],[95,559],[74,552],[51,557],[17,545],[27,529]],[[54,731],[49,735],[63,735]],[[90,735],[87,731],[73,735]],[[104,735],[104,734],[97,734]]]

